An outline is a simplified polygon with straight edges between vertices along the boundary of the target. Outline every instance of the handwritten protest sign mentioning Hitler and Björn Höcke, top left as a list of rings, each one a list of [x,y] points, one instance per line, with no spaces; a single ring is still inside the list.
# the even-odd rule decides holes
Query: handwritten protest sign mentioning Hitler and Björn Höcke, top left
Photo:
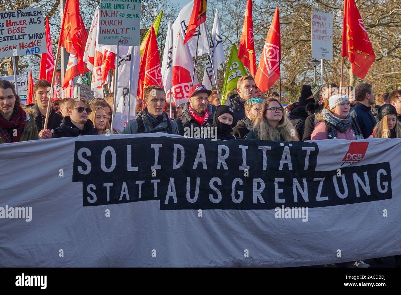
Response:
[[[46,52],[45,24],[41,7],[0,12],[0,57]]]

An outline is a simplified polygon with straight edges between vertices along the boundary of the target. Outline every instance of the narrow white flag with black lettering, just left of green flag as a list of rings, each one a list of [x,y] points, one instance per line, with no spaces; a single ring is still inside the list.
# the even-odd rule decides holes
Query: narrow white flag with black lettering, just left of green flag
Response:
[[[212,89],[212,85],[216,85],[217,68],[222,62],[224,62],[223,37],[221,35],[219,14],[217,9],[215,14],[215,21],[213,22],[212,36],[210,39],[210,55],[213,60],[213,67],[215,68],[215,76],[213,77],[213,69],[209,56],[206,61],[205,72],[203,73],[203,85],[205,85],[207,89]]]

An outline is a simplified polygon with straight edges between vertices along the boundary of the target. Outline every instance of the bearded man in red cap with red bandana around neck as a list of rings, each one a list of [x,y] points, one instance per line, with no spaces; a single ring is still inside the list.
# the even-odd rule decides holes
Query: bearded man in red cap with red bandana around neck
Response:
[[[201,127],[213,128],[212,107],[208,104],[211,93],[205,85],[192,86],[188,93],[189,102],[184,105],[182,116],[174,120],[178,124],[178,134],[190,134],[190,137],[199,134],[198,137],[203,137]]]

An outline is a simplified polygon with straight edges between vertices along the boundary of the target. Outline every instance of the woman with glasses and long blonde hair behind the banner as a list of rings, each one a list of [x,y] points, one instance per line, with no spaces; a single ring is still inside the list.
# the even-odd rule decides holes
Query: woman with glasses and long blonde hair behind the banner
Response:
[[[284,114],[284,107],[276,98],[267,98],[259,116],[255,119],[253,129],[245,139],[298,141],[298,134],[290,119]]]

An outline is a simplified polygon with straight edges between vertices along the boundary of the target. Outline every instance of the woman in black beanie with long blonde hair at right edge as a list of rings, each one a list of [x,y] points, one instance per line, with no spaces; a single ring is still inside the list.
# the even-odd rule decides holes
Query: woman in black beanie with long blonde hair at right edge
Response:
[[[401,123],[397,119],[397,110],[391,104],[383,104],[377,112],[379,123],[373,129],[375,138],[401,138]]]

